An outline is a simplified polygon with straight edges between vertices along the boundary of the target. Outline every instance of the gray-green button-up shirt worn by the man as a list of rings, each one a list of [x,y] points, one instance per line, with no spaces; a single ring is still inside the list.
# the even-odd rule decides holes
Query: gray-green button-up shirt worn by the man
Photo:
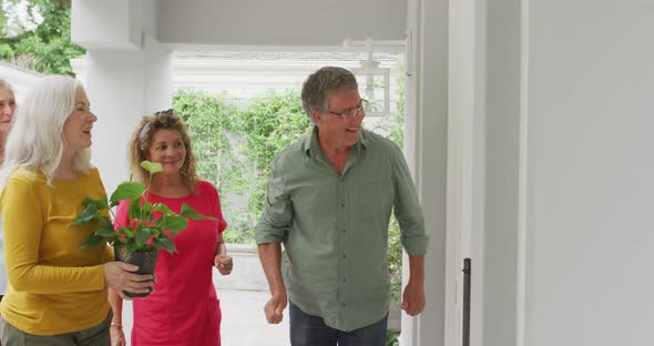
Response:
[[[391,211],[409,255],[426,254],[425,220],[395,143],[361,130],[338,174],[317,131],[273,161],[256,241],[284,243],[282,273],[293,303],[348,332],[388,313]]]

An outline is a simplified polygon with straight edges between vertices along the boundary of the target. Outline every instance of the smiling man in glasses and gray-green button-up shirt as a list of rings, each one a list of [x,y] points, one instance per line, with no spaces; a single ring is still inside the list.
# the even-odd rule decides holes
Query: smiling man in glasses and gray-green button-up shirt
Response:
[[[279,323],[288,304],[294,346],[386,345],[391,211],[409,254],[401,307],[425,308],[427,235],[407,163],[395,143],[361,129],[367,101],[351,72],[319,69],[302,100],[314,130],[272,162],[255,231],[272,295],[266,319]]]

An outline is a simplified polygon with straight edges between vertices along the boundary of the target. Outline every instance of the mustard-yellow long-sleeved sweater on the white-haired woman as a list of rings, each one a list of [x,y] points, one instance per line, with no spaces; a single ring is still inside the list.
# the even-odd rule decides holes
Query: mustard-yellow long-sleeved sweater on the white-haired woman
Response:
[[[82,201],[106,199],[96,169],[73,180],[14,172],[0,197],[9,286],[2,318],[34,335],[57,335],[100,324],[109,313],[104,267],[109,247],[80,244],[93,226],[72,226]]]

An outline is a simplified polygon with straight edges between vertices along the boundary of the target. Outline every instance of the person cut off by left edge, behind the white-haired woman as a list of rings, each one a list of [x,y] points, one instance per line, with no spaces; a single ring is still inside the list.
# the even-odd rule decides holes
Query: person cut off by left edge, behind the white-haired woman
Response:
[[[0,79],[0,166],[4,162],[4,141],[9,134],[9,126],[16,112],[16,98],[13,89]],[[0,215],[0,301],[7,293],[7,268],[4,267],[4,246],[2,245],[2,216]]]

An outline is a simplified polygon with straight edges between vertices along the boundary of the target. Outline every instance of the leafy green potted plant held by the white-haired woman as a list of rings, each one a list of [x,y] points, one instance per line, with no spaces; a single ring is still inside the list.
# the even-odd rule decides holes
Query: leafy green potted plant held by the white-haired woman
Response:
[[[98,228],[80,245],[89,248],[109,243],[114,248],[115,260],[139,266],[137,274],[154,274],[154,266],[160,250],[176,252],[172,236],[184,231],[188,220],[212,220],[213,217],[195,212],[183,204],[180,213],[171,211],[162,203],[152,204],[146,195],[152,183],[152,176],[163,171],[160,163],[143,161],[141,166],[150,173],[147,187],[140,182],[123,182],[106,200],[85,199],[84,210],[72,222],[73,225],[95,223]],[[116,225],[109,217],[115,218],[114,207],[123,200],[130,200],[129,225]],[[167,231],[167,232],[164,232]],[[152,288],[151,288],[152,289]],[[144,297],[149,293],[133,294],[124,292],[130,297]]]

